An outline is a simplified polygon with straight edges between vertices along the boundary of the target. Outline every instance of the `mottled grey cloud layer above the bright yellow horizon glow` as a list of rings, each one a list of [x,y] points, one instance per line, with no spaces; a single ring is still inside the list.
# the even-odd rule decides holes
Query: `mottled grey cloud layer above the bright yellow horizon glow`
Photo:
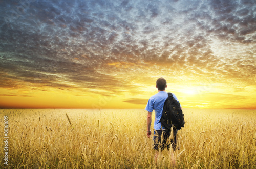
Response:
[[[255,1],[22,2],[0,2],[2,81],[114,91],[132,79],[115,75],[174,66],[255,82]],[[247,52],[216,54],[215,40]]]

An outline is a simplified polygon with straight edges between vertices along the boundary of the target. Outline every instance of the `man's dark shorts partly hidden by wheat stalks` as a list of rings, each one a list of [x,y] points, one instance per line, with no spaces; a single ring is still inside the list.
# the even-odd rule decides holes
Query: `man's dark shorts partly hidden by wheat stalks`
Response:
[[[154,150],[159,150],[159,148],[161,148],[161,150],[167,148],[169,150],[170,146],[172,145],[173,150],[176,149],[176,145],[177,145],[177,130],[173,130],[174,131],[174,137],[171,138],[169,140],[170,137],[170,130],[155,130],[154,131],[154,145],[153,145],[153,149]],[[161,135],[163,134],[163,140],[161,140]]]

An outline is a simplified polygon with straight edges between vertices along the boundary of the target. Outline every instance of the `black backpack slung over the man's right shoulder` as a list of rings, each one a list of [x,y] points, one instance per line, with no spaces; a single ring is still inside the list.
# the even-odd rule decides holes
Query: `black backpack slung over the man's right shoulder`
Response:
[[[170,130],[172,126],[176,130],[180,130],[181,127],[184,127],[184,115],[180,103],[173,97],[172,93],[168,93],[168,97],[164,102],[160,122],[161,126],[168,130]]]

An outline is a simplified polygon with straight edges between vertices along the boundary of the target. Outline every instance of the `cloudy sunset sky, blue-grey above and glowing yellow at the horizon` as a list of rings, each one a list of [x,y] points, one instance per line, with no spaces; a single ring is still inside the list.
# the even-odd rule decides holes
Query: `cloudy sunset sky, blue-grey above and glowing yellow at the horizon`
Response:
[[[0,1],[0,108],[256,108],[256,2]]]

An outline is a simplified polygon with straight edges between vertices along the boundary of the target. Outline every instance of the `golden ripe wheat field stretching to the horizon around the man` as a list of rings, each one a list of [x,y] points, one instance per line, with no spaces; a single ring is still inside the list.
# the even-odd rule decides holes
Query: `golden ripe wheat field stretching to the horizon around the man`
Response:
[[[256,168],[256,111],[183,109],[175,168]],[[154,164],[143,109],[1,109],[0,168],[172,168]],[[154,117],[153,117],[154,119]],[[153,130],[153,124],[152,124]]]

